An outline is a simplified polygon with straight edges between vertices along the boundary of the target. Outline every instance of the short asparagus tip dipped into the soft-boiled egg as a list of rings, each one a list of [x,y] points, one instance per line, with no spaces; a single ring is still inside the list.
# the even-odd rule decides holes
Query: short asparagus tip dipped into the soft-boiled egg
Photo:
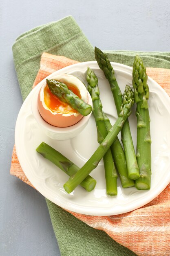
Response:
[[[87,116],[91,113],[91,105],[84,102],[76,94],[68,89],[65,83],[61,83],[54,79],[46,79],[50,91],[61,101],[68,103],[73,109],[77,110],[81,115]]]

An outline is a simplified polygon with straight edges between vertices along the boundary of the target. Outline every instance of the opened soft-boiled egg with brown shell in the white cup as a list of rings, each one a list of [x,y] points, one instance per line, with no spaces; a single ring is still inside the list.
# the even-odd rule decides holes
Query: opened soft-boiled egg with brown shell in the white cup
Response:
[[[60,74],[52,79],[65,83],[79,98],[88,103],[88,92],[82,81],[71,74]],[[50,90],[46,82],[38,94],[38,110],[42,118],[49,124],[57,127],[68,127],[76,124],[83,118],[77,110],[62,102]]]

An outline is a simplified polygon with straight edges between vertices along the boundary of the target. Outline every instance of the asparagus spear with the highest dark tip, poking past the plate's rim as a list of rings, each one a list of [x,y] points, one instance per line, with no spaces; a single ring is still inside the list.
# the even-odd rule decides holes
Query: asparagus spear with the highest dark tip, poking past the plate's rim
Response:
[[[122,103],[121,90],[117,83],[115,72],[113,70],[110,61],[106,54],[104,54],[100,49],[95,47],[95,58],[99,65],[99,67],[103,70],[106,79],[110,84],[110,88],[115,100],[115,106],[117,109],[117,114],[119,115],[120,106]],[[130,133],[129,121],[124,124],[124,127],[121,130],[121,140],[124,145],[124,152],[126,157],[126,163],[128,168],[128,177],[132,180],[136,180],[139,178],[139,167],[137,165],[137,159],[135,155],[135,150],[133,146],[132,136]]]

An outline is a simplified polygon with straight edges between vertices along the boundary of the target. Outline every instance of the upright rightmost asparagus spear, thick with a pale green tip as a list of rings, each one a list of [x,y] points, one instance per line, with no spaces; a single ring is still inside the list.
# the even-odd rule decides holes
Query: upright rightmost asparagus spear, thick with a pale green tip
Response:
[[[151,138],[150,117],[148,110],[149,88],[148,76],[143,61],[139,56],[133,63],[133,88],[137,103],[137,163],[140,178],[135,181],[137,189],[150,189],[151,179]]]

